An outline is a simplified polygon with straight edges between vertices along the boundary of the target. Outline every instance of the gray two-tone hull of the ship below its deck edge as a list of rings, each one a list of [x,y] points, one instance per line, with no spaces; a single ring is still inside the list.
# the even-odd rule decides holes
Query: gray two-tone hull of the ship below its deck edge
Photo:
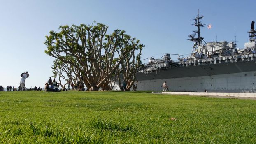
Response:
[[[256,92],[255,61],[212,65],[170,67],[166,70],[139,72],[137,90],[163,91],[166,81],[170,91]]]

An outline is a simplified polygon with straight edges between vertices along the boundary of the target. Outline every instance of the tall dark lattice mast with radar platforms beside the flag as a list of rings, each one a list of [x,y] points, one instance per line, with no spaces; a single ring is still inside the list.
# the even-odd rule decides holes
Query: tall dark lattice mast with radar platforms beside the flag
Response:
[[[203,42],[202,41],[203,41],[204,37],[200,36],[200,28],[205,26],[205,24],[201,23],[202,22],[201,19],[203,17],[204,16],[199,16],[199,9],[198,9],[198,15],[197,15],[197,17],[195,17],[195,19],[193,19],[195,21],[195,23],[192,24],[192,25],[197,27],[197,30],[193,30],[194,34],[190,34],[189,35],[190,39],[188,39],[190,41],[193,41],[193,43],[194,43],[192,54],[197,52],[197,51],[202,51],[202,50],[198,49],[199,46],[201,46],[201,48],[203,48]],[[198,35],[198,37],[195,37],[196,34]],[[205,54],[206,54],[206,52],[205,52]]]

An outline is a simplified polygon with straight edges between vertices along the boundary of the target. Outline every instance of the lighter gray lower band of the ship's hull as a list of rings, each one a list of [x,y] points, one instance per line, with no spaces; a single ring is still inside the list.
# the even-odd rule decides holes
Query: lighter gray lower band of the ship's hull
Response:
[[[233,74],[220,74],[202,77],[183,77],[172,79],[153,79],[138,82],[137,90],[163,91],[166,81],[170,91],[204,92],[256,92],[256,71]]]

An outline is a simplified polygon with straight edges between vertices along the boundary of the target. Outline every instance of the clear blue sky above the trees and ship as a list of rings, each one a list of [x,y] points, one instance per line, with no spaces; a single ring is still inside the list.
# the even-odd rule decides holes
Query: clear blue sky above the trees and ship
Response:
[[[44,50],[45,35],[60,25],[91,24],[125,30],[145,45],[142,58],[164,53],[191,53],[188,35],[191,19],[203,15],[205,42],[248,42],[251,21],[256,18],[254,0],[0,0],[0,85],[17,87],[21,72],[28,70],[26,87],[44,86],[53,74],[54,58]],[[172,59],[177,57],[173,56]],[[145,61],[146,63],[147,61]]]

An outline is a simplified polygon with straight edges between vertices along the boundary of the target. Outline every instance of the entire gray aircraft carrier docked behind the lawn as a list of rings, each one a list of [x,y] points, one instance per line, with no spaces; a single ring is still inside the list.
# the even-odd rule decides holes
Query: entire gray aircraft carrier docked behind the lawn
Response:
[[[137,90],[163,91],[167,82],[169,91],[195,92],[256,92],[256,30],[254,21],[249,30],[249,42],[237,49],[235,42],[205,42],[200,35],[203,16],[193,19],[191,56],[171,60],[167,53],[163,59],[150,58],[137,73]]]

